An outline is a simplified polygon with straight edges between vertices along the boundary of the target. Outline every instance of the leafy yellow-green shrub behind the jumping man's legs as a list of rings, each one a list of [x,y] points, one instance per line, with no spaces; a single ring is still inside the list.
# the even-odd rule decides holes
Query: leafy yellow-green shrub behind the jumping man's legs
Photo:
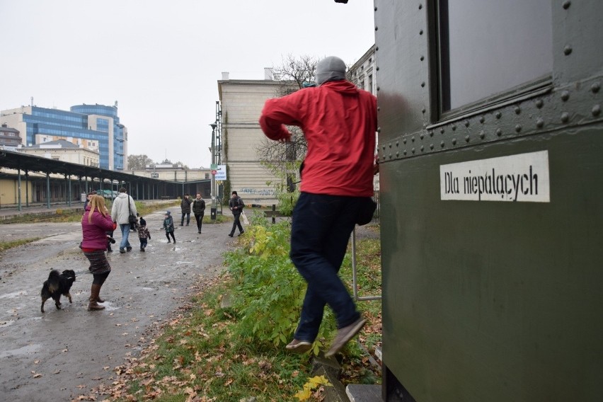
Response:
[[[227,253],[226,263],[237,284],[233,309],[240,316],[241,335],[280,347],[289,343],[297,328],[306,282],[289,260],[289,222],[269,226],[261,220],[246,228],[243,247]],[[332,313],[326,309],[315,353],[334,329]]]

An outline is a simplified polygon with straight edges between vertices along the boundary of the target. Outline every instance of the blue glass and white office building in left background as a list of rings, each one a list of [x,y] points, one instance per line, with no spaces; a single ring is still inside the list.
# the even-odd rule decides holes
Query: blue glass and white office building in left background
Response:
[[[98,143],[101,168],[127,168],[127,128],[120,124],[117,106],[84,104],[69,111],[22,106],[3,110],[0,121],[21,131],[24,146],[38,144],[41,138],[81,139]]]

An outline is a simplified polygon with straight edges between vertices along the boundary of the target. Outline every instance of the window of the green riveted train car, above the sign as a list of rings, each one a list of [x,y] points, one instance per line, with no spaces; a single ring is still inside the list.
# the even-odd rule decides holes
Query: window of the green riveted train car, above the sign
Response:
[[[440,0],[437,14],[443,113],[550,80],[550,0]]]

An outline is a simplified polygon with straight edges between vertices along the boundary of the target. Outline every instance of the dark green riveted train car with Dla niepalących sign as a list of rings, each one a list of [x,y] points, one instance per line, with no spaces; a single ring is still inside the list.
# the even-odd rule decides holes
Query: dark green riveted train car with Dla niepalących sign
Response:
[[[603,401],[603,1],[374,1],[384,401]]]

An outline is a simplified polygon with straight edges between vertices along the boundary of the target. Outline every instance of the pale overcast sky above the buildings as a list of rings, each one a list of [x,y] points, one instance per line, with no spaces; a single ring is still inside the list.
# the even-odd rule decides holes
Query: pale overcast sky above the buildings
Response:
[[[0,110],[117,101],[129,154],[190,168],[209,167],[222,71],[374,44],[371,0],[0,0],[0,16]]]

